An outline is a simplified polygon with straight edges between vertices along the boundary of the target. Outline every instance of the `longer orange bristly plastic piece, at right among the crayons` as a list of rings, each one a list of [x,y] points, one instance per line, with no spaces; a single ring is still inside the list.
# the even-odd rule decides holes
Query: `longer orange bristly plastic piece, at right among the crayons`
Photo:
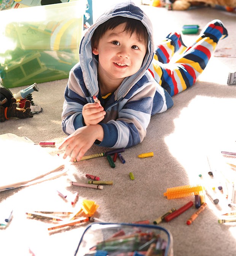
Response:
[[[199,185],[178,186],[173,188],[167,188],[166,192],[164,193],[164,196],[167,196],[167,199],[176,199],[187,196],[194,196],[196,194],[199,194],[203,190],[205,190],[205,188]]]

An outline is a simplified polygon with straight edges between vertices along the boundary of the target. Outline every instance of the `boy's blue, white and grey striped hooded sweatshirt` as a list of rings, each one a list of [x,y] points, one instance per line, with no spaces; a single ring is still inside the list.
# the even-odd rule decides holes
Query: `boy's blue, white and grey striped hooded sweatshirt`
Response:
[[[115,16],[140,20],[147,28],[148,47],[139,71],[124,78],[120,86],[108,98],[102,100],[97,79],[98,61],[92,53],[91,38],[95,29]],[[70,71],[65,89],[62,112],[62,130],[67,135],[85,126],[82,109],[99,98],[106,112],[99,124],[104,130],[104,139],[95,144],[110,148],[128,148],[143,141],[151,115],[166,111],[173,101],[148,71],[154,55],[153,31],[150,19],[133,2],[119,3],[105,12],[94,23],[81,40],[79,58]]]

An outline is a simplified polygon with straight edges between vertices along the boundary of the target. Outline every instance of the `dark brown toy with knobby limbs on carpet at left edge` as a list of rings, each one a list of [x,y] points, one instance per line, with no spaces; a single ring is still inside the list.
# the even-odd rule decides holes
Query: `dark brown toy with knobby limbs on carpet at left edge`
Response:
[[[9,107],[0,106],[0,122],[8,120],[10,117],[27,118],[33,117],[30,109],[30,100],[26,100],[24,107],[19,108],[16,104],[16,99],[11,98]]]

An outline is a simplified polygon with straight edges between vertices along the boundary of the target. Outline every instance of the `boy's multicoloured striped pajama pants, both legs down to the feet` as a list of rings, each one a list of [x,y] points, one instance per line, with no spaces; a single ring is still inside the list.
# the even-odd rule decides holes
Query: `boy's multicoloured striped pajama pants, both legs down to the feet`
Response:
[[[179,33],[171,33],[157,46],[149,71],[156,81],[174,96],[195,83],[218,41],[226,36],[227,30],[218,19],[208,23],[194,44],[188,48],[183,44]],[[171,57],[176,52],[180,52],[179,60],[172,63]]]

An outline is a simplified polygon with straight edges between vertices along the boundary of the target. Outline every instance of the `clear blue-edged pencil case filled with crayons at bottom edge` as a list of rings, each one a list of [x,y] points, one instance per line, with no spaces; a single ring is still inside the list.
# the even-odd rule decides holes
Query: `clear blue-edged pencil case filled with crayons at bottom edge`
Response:
[[[173,238],[163,227],[144,224],[88,225],[75,256],[173,256]]]

